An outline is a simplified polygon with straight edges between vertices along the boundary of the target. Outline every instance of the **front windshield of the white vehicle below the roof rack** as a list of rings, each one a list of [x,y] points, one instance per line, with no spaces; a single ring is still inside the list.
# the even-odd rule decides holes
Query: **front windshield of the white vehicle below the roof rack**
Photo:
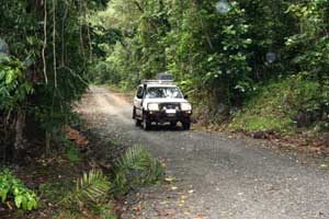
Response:
[[[182,99],[182,93],[178,88],[148,88],[147,99]]]

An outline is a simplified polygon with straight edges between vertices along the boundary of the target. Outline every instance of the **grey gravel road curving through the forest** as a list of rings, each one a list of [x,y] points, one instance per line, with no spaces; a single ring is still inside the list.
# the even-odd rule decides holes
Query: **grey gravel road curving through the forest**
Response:
[[[103,138],[148,147],[177,178],[132,193],[123,218],[329,219],[326,158],[222,132],[144,131],[132,104],[104,88],[92,87],[79,111]]]

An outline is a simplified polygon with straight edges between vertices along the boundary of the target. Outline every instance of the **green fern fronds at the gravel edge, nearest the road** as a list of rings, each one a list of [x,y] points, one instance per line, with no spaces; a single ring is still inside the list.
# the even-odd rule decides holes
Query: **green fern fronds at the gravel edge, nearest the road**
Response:
[[[129,148],[116,161],[115,173],[113,186],[115,195],[125,194],[143,185],[156,184],[164,176],[161,163],[140,146]]]

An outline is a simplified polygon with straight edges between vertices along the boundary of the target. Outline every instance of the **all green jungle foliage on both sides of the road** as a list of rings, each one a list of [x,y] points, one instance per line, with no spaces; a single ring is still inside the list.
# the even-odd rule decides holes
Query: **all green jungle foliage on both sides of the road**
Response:
[[[86,209],[115,218],[112,196],[163,178],[162,164],[138,147],[114,164],[113,183],[82,166],[65,131],[91,82],[135,90],[171,72],[200,120],[329,131],[329,0],[0,0],[0,218],[38,208],[41,194],[66,210],[58,218]],[[11,166],[47,153],[58,168],[60,147],[69,165],[59,171],[89,171],[73,188],[54,173],[35,193]],[[39,157],[41,168],[52,163]]]

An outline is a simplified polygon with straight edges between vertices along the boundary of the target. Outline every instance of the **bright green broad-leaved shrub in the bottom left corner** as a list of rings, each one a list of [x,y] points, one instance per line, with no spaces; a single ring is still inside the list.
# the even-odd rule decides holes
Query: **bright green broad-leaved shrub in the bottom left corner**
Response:
[[[12,197],[18,208],[33,210],[37,208],[38,199],[35,193],[29,189],[12,172],[4,169],[0,172],[0,197],[1,203]]]

